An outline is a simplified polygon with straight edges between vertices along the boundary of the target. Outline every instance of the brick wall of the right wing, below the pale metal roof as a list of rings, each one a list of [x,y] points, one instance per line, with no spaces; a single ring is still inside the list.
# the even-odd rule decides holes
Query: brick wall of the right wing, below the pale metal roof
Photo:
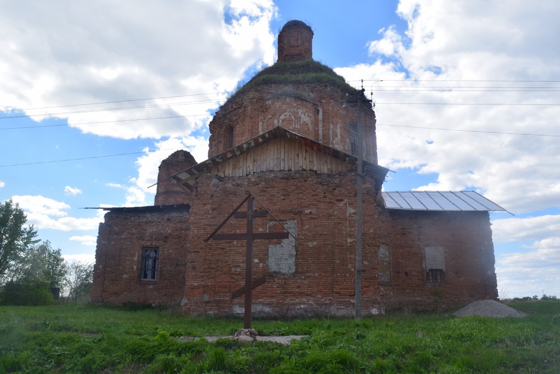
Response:
[[[446,308],[497,298],[488,212],[380,213],[391,269],[390,281],[380,284],[384,307]],[[443,248],[446,282],[427,282],[427,247]]]

